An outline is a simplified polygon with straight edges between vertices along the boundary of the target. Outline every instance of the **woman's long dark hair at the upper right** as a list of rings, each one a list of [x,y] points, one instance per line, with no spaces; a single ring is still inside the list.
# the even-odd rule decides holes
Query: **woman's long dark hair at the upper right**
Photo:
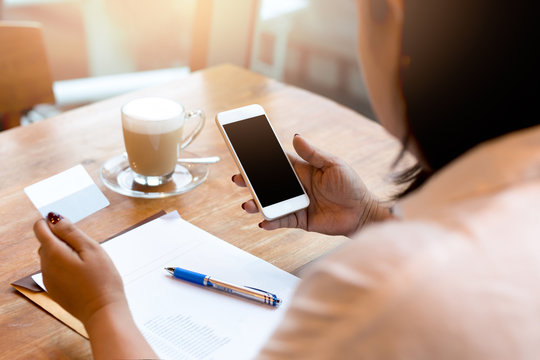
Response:
[[[404,1],[405,142],[422,159],[398,176],[410,182],[400,196],[475,145],[540,124],[536,3]]]

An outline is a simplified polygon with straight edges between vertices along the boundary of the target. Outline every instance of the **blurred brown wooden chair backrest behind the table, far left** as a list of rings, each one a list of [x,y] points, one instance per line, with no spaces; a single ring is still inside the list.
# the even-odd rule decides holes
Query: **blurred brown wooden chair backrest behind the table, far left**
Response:
[[[54,104],[41,25],[0,21],[0,115],[3,128],[19,125],[37,104]]]

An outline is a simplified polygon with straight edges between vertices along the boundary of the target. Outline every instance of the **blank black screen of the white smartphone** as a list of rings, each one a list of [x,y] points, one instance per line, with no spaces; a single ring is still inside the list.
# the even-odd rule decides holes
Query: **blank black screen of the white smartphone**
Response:
[[[263,207],[304,194],[265,115],[223,128]]]

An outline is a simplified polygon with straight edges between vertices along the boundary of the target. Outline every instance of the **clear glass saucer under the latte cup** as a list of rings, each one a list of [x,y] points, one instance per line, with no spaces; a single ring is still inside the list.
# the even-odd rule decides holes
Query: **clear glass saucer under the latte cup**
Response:
[[[198,157],[187,151],[182,151],[182,156]],[[208,165],[178,163],[169,182],[159,186],[144,186],[133,181],[127,154],[123,153],[105,161],[100,176],[105,186],[119,194],[156,199],[183,194],[199,186],[208,176]]]

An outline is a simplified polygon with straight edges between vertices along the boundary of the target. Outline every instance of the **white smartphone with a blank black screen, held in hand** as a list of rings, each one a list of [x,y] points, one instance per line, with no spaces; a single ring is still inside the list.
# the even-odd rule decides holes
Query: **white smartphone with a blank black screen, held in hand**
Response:
[[[216,123],[266,220],[308,207],[309,197],[262,106],[220,112]]]

